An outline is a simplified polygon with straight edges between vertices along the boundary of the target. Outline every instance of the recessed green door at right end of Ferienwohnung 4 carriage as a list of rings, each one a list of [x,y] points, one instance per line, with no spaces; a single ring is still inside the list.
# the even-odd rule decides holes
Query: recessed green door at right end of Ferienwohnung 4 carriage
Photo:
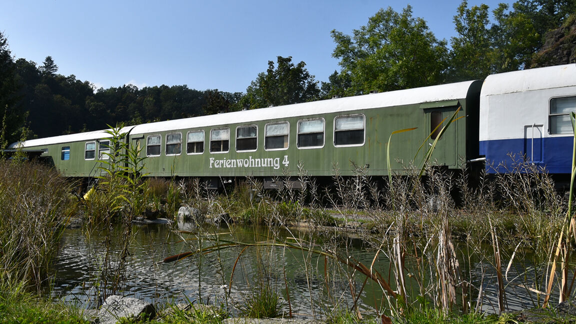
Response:
[[[426,150],[429,149],[430,146],[434,144],[434,141],[438,138],[434,152],[432,152],[432,156],[430,157],[430,163],[433,165],[457,165],[458,155],[456,150],[458,145],[456,134],[458,122],[453,122],[451,125],[448,125],[448,121],[450,118],[452,118],[456,110],[457,106],[427,108],[424,110],[427,121],[426,135],[430,134],[430,137],[427,141],[427,148],[423,150],[426,152]],[[463,114],[458,113],[456,118],[458,118],[460,115]],[[442,127],[445,126],[446,130],[444,131],[444,134],[440,136],[440,131],[442,130]]]

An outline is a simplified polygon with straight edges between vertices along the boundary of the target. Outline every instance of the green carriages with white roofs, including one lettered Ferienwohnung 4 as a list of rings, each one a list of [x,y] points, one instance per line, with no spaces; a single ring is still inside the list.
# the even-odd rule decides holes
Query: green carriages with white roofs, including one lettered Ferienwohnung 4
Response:
[[[433,160],[449,169],[478,157],[479,93],[469,81],[386,93],[321,100],[124,127],[130,145],[141,148],[150,176],[227,179],[297,175],[300,164],[312,176],[353,175],[352,164],[384,176],[386,145],[393,131],[392,168],[414,159],[435,126],[460,107],[435,148]],[[435,134],[429,139],[434,140]],[[93,176],[107,150],[105,131],[29,140],[24,149],[44,150],[65,176]],[[16,146],[13,144],[12,146]],[[423,149],[416,161],[423,156]],[[399,162],[402,161],[402,162]]]

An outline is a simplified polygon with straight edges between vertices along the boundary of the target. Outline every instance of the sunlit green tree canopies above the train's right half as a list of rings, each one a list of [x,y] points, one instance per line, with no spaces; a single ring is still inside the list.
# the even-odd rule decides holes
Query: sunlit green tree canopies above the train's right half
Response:
[[[352,35],[332,31],[340,73],[323,82],[323,97],[371,90],[391,91],[445,82],[483,79],[488,74],[530,67],[544,35],[576,12],[574,0],[518,0],[468,6],[464,0],[453,22],[457,36],[438,40],[411,6],[401,13],[379,10]]]

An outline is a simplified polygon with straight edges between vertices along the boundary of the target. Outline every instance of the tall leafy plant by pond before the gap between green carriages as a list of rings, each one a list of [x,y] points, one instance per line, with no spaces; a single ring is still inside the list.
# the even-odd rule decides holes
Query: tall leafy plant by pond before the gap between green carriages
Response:
[[[100,156],[98,189],[85,204],[85,234],[88,242],[94,231],[103,234],[101,246],[92,246],[98,275],[94,278],[98,305],[123,286],[123,275],[132,240],[132,220],[143,213],[147,205],[147,188],[143,180],[141,150],[128,147],[121,133],[122,126],[107,130],[110,135],[109,151]],[[120,227],[116,225],[120,225]],[[96,251],[104,251],[99,257]]]

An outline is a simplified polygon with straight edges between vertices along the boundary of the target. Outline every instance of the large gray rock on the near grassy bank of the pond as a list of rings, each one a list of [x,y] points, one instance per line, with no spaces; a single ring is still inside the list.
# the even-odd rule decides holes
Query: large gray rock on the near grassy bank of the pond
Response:
[[[147,318],[156,317],[156,308],[153,304],[134,297],[109,296],[102,308],[98,311],[100,324],[115,324],[120,318]]]

